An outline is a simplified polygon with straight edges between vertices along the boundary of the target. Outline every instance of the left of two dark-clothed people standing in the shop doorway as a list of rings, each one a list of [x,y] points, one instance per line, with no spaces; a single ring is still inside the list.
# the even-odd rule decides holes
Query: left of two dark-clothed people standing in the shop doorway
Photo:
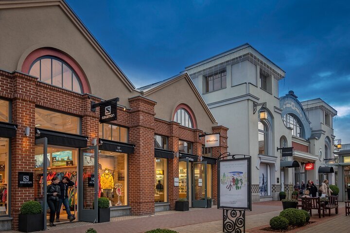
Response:
[[[53,221],[57,211],[58,199],[61,196],[61,188],[58,185],[58,177],[53,177],[51,181],[52,183],[47,187],[46,193],[47,202],[50,208],[50,226],[55,227],[56,225],[53,223]]]

